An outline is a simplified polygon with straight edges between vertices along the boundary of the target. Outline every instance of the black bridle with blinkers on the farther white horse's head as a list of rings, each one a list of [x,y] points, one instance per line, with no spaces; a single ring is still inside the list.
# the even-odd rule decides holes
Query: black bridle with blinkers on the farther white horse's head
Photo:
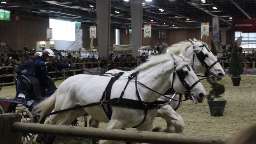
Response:
[[[202,42],[202,41],[200,41],[200,40],[198,40],[198,41],[199,41],[199,42]],[[198,42],[198,41],[196,41],[196,42]],[[207,49],[207,51],[210,52],[210,50],[207,48],[207,46],[206,46],[203,42],[202,42],[202,45],[200,45],[199,47],[203,47],[203,48],[205,47],[205,49]],[[212,65],[208,66],[208,64],[204,61],[206,57],[205,57],[205,54],[203,54],[203,48],[202,48],[202,50],[201,50],[200,52],[197,52],[197,51],[195,50],[195,46],[193,46],[194,52],[193,52],[192,68],[194,68],[194,60],[195,60],[195,55],[196,55],[196,57],[198,58],[198,60],[201,62],[202,66],[206,68],[204,75],[205,75],[205,76],[207,76],[207,75],[209,75],[209,74],[212,75],[213,73],[210,71],[210,69],[211,69],[215,64],[217,64],[218,61],[215,61]]]

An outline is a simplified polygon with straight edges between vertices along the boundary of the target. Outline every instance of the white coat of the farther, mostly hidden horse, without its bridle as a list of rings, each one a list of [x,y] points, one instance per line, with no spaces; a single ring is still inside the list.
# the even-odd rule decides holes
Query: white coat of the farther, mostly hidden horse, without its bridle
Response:
[[[195,38],[194,38],[194,41],[189,39],[189,42],[187,42],[187,41],[180,42],[180,43],[176,43],[176,44],[172,45],[171,47],[167,47],[167,50],[168,50],[167,53],[173,53],[175,55],[183,54],[184,57],[189,58],[192,62],[194,49],[196,50],[196,52],[200,52],[202,50],[202,52],[208,56],[205,59],[205,63],[208,66],[211,66],[215,61],[217,61],[217,59],[212,54],[212,52],[209,52],[205,47],[204,48],[199,47],[203,44],[205,44],[205,43],[198,41]],[[207,44],[205,44],[205,45],[207,46]],[[208,48],[208,46],[207,46],[207,48]],[[156,58],[156,57],[154,57],[154,58]],[[201,62],[199,61],[199,59],[196,56],[195,56],[195,61],[194,61],[194,69],[200,73],[204,73],[205,70],[207,70],[205,67],[203,67],[203,65],[201,64]],[[219,64],[219,63],[215,64],[210,69],[210,71],[212,71],[214,73],[214,75],[217,77],[218,80],[220,80],[225,75],[224,70],[221,67],[221,64]],[[106,73],[118,73],[118,72],[120,72],[120,70],[112,69],[110,71],[107,71]],[[215,80],[215,79],[213,79],[213,80]],[[167,96],[172,97],[172,95],[167,95]],[[182,99],[183,99],[183,97],[184,96],[182,95]],[[174,97],[174,99],[179,100],[179,96],[176,95]],[[160,97],[158,100],[168,101],[169,99],[167,99],[165,97]],[[157,128],[154,128],[154,131],[156,131],[156,132],[175,132],[175,133],[183,133],[184,132],[185,125],[184,125],[182,116],[179,115],[178,113],[176,113],[173,109],[173,108],[176,108],[177,105],[178,105],[177,101],[171,101],[170,105],[166,105],[166,106],[163,106],[161,109],[158,109],[157,115],[166,120],[167,127],[166,128],[157,127]],[[98,127],[99,121],[94,120],[93,123],[92,123],[92,121],[93,121],[93,118],[89,122],[90,126]]]

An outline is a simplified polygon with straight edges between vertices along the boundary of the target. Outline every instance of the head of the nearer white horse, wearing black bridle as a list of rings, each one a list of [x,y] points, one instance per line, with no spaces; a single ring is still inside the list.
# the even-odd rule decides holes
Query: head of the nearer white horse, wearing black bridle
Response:
[[[172,88],[184,94],[186,98],[191,99],[193,102],[202,103],[205,99],[206,92],[190,66],[190,60],[182,54],[179,54],[178,57],[173,54],[172,56],[176,64],[172,76]]]

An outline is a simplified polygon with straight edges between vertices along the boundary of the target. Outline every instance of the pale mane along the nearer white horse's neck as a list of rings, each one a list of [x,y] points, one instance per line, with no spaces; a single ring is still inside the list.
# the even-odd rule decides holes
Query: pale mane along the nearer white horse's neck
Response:
[[[184,57],[177,57],[174,56],[175,58],[175,62],[177,64],[177,70],[181,69],[183,66],[188,65],[191,63],[190,59],[188,58],[184,58]],[[149,68],[151,66],[155,66],[157,64],[160,64],[162,62],[166,62],[166,61],[173,61],[173,56],[171,52],[166,52],[165,54],[161,54],[161,55],[156,55],[156,56],[150,56],[149,59],[147,60],[147,62],[145,62],[144,64],[138,66],[135,71],[141,71],[144,70],[146,68]]]

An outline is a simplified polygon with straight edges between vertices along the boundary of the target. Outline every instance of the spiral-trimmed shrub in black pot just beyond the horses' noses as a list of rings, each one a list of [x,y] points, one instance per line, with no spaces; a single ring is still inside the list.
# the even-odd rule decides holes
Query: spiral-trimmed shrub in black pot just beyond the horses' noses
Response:
[[[212,90],[210,90],[209,94],[206,96],[210,114],[211,116],[223,116],[224,108],[227,103],[226,99],[222,96],[225,92],[225,87],[223,84],[210,81],[209,79],[207,82],[209,82],[212,87]]]

